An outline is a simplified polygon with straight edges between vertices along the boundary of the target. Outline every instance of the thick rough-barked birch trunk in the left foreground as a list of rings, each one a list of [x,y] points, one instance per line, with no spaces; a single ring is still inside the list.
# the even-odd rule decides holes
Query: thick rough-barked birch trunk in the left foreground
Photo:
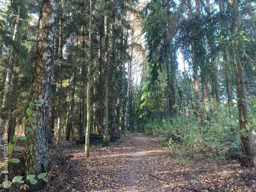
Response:
[[[36,45],[35,67],[30,101],[39,100],[40,106],[33,131],[25,131],[25,177],[49,171],[49,149],[47,141],[47,114],[51,93],[54,37],[58,16],[58,1],[45,0],[42,3]],[[30,125],[28,125],[30,126]]]

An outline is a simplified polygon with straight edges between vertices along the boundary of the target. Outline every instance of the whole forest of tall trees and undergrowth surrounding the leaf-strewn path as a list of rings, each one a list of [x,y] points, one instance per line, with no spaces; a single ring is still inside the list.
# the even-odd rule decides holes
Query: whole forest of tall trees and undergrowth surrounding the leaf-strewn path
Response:
[[[2,191],[54,191],[49,186],[77,154],[93,166],[100,150],[115,156],[131,143],[255,169],[255,6],[252,0],[0,0]],[[50,174],[54,158],[65,172]],[[132,170],[138,159],[130,160]],[[249,175],[255,186],[241,191],[256,190],[256,175]],[[161,191],[241,189],[225,186]],[[76,191],[157,191],[104,187]]]

